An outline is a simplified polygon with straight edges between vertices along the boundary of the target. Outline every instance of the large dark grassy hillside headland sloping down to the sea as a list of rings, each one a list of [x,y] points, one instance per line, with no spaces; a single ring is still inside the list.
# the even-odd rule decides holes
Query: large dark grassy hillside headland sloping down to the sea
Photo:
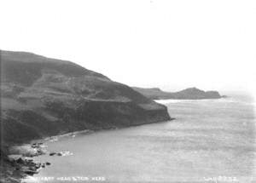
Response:
[[[170,119],[166,106],[72,62],[24,52],[0,55],[4,142]]]

